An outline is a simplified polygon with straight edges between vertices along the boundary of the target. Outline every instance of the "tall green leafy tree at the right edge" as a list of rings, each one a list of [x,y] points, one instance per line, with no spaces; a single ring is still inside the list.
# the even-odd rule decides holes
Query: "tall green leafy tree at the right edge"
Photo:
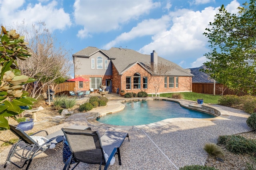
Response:
[[[255,0],[238,7],[237,14],[224,5],[204,35],[212,51],[204,63],[211,78],[232,90],[255,93],[256,87],[256,6]]]

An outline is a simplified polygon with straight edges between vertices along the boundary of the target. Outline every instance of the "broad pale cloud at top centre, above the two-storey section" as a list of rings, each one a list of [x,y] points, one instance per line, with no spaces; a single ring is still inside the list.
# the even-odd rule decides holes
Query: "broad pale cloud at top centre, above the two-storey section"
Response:
[[[122,24],[148,14],[150,10],[158,6],[160,3],[153,3],[152,0],[76,0],[74,3],[75,21],[76,24],[84,27],[79,31],[78,37],[86,37],[92,32],[119,29]]]

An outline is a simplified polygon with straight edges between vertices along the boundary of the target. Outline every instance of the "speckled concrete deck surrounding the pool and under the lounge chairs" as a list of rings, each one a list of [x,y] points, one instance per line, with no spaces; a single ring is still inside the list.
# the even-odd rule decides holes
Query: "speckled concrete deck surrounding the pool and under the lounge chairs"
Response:
[[[60,130],[72,124],[80,124],[98,130],[100,135],[105,131],[124,131],[129,133],[130,142],[124,140],[120,148],[122,165],[118,165],[118,158],[110,170],[178,170],[191,164],[204,165],[208,154],[203,150],[205,143],[217,143],[218,136],[232,135],[251,131],[246,124],[249,114],[242,110],[214,104],[203,104],[220,111],[221,115],[212,119],[173,118],[140,126],[113,126],[99,123],[94,119],[96,115],[115,112],[123,109],[122,100],[113,97],[105,107],[98,107],[88,113],[76,113],[65,120],[65,123],[46,129],[49,133]],[[158,98],[168,99],[168,98]],[[178,100],[182,105],[194,105],[196,102]],[[200,107],[200,106],[199,106]],[[0,169],[4,169],[4,162],[10,150],[0,153]],[[61,170],[62,144],[55,149],[36,156],[31,170]],[[98,169],[99,165],[80,163],[75,169]],[[16,166],[8,164],[6,169],[18,170]],[[23,168],[25,169],[25,168]]]

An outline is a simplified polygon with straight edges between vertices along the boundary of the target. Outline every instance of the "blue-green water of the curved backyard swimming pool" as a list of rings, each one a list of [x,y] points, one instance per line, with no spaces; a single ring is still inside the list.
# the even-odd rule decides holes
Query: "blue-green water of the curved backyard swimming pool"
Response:
[[[133,126],[175,117],[212,118],[215,116],[186,109],[176,102],[144,100],[125,103],[124,110],[99,117],[97,121],[110,125]]]

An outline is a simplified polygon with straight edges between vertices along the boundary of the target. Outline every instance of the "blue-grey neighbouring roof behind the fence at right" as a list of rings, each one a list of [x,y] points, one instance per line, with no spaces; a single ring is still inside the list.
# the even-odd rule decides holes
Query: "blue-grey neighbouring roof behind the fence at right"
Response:
[[[192,82],[193,83],[213,83],[213,80],[210,78],[210,76],[200,71],[200,69],[203,69],[203,66],[200,66],[197,68],[190,68],[191,73],[194,75],[194,77],[192,77]]]

